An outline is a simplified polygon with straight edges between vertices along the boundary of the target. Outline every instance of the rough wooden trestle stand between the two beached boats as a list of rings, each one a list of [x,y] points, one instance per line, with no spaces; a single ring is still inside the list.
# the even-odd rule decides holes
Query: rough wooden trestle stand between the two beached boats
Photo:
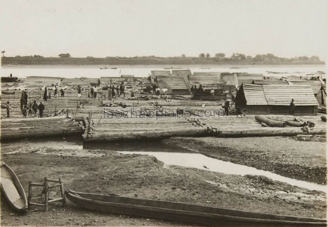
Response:
[[[49,185],[49,182],[56,183],[56,184]],[[43,191],[40,196],[32,198],[32,186],[42,186],[43,187]],[[49,197],[49,189],[52,189],[55,187],[60,188],[60,195],[61,195],[60,198]],[[42,198],[42,194],[45,194],[45,204],[31,202],[32,199]],[[60,178],[59,178],[59,180],[51,180],[51,179],[47,179],[47,177],[45,177],[45,181],[40,182],[40,183],[32,183],[32,180],[29,180],[29,195],[28,195],[29,210],[30,210],[31,205],[40,205],[40,206],[45,207],[45,211],[48,211],[49,203],[59,202],[59,201],[61,201],[63,203],[63,207],[66,205],[65,194],[63,191],[63,182],[61,181]]]

